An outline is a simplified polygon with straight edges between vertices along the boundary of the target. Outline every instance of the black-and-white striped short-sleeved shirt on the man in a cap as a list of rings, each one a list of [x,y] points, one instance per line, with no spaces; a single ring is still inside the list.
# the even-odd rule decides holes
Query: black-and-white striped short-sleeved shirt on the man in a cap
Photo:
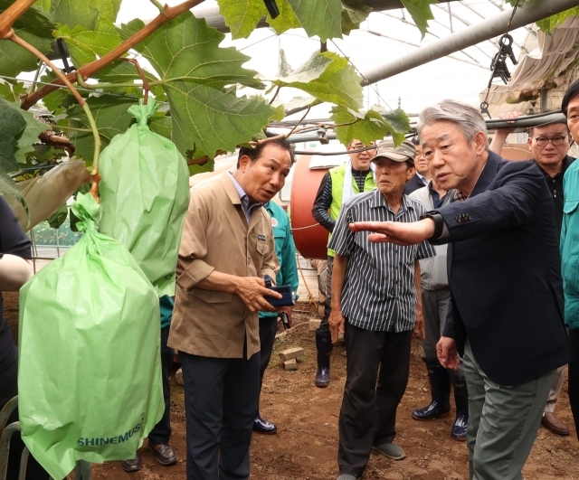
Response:
[[[427,241],[402,247],[372,243],[367,231],[354,233],[352,221],[419,221],[426,212],[417,200],[403,195],[397,213],[378,190],[351,198],[337,218],[329,248],[348,257],[342,290],[342,315],[348,324],[376,332],[405,332],[416,321],[414,260],[435,255]]]

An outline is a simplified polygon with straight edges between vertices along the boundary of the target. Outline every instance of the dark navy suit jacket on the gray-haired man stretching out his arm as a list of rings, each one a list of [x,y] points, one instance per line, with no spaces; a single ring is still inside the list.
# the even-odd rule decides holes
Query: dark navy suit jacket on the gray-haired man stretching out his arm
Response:
[[[573,358],[563,320],[554,207],[529,162],[490,153],[464,202],[438,209],[450,236],[451,306],[444,336],[499,385],[517,385]]]

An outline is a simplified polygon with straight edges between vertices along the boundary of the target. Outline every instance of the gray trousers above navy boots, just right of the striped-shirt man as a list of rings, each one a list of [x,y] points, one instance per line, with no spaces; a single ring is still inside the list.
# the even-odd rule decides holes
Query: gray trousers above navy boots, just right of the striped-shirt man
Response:
[[[424,333],[422,340],[423,359],[426,361],[438,360],[436,344],[441,339],[446,323],[446,313],[451,302],[449,287],[426,290],[422,288],[422,316],[424,317]],[[449,370],[453,377],[464,377],[464,370],[460,364],[458,370]]]

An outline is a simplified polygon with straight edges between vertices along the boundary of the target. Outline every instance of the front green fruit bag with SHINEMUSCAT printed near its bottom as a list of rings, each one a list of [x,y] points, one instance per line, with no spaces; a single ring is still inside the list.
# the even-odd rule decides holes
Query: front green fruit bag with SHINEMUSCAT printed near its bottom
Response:
[[[132,458],[165,409],[157,292],[90,194],[71,208],[82,239],[20,290],[22,438],[57,480]]]

